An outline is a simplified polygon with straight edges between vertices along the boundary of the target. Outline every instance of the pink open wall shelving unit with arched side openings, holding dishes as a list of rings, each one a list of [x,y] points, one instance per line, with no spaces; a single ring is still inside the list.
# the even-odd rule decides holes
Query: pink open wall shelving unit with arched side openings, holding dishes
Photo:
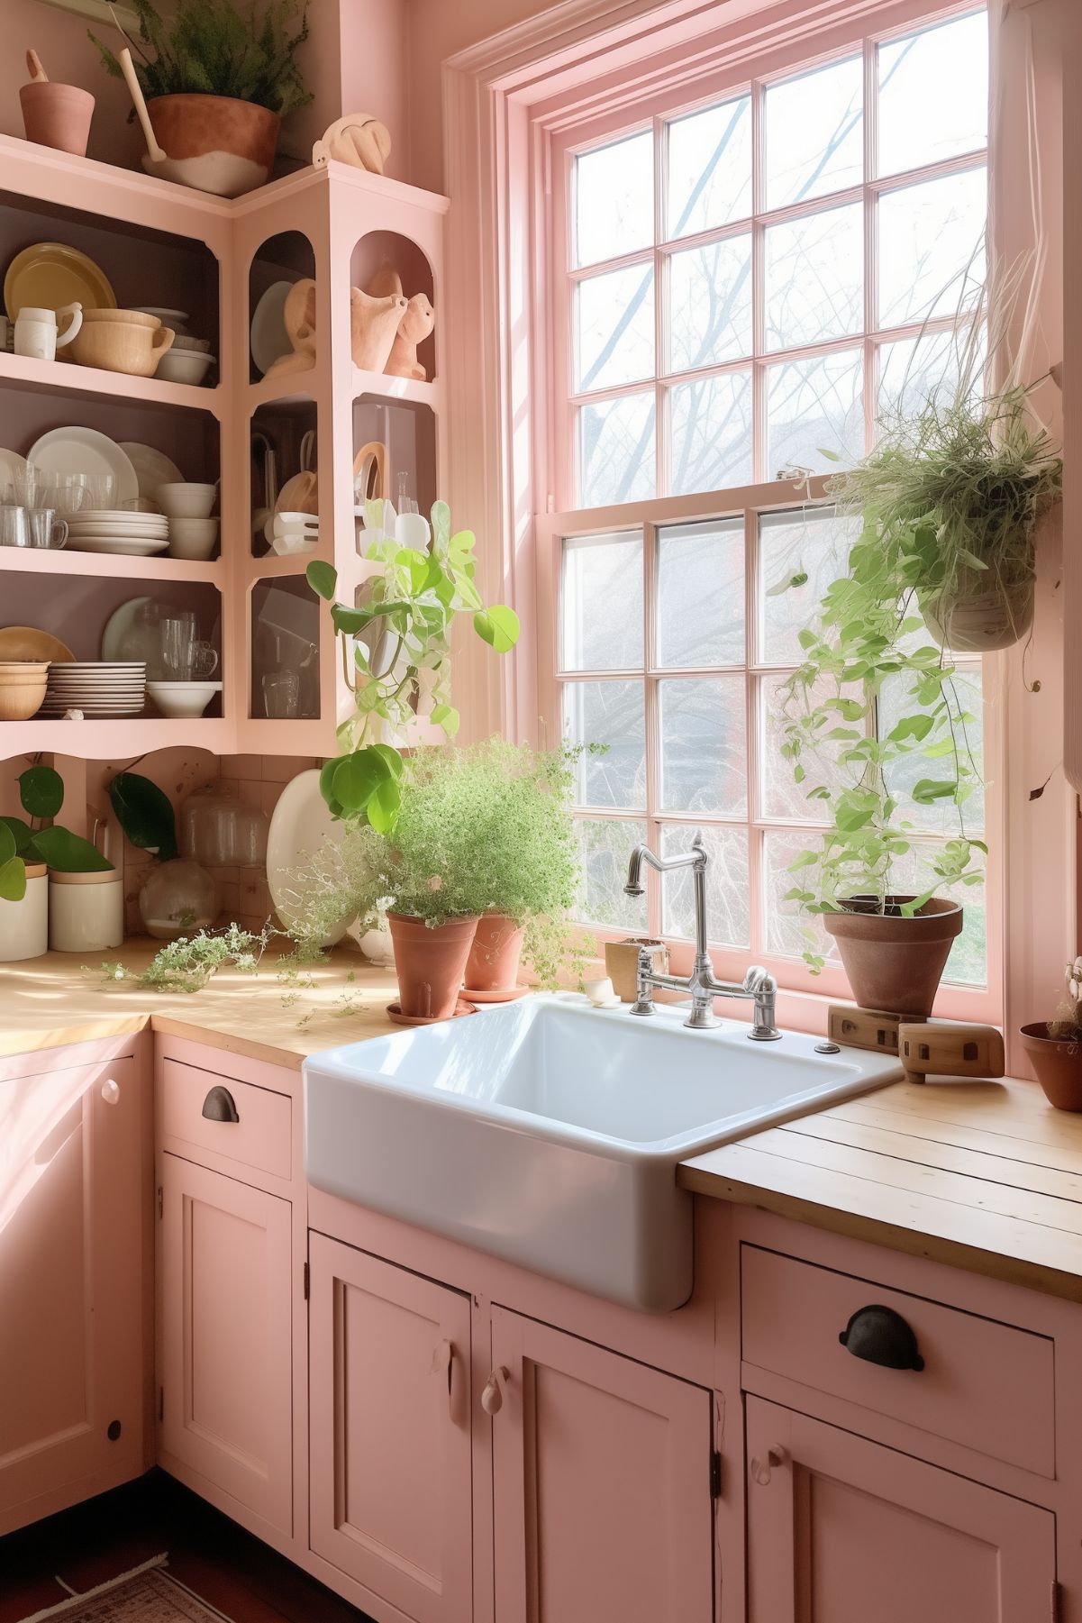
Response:
[[[354,597],[367,575],[354,514],[354,456],[367,441],[388,445],[383,493],[391,500],[399,476],[422,511],[443,489],[446,198],[331,162],[229,201],[10,136],[0,136],[0,265],[39,240],[83,248],[109,274],[120,305],[196,310],[193,331],[211,338],[219,357],[214,386],[195,388],[62,357],[0,354],[0,445],[24,454],[45,428],[79,424],[154,445],[187,479],[221,477],[221,557],[191,563],[0,549],[0,625],[42,625],[76,657],[96,657],[117,601],[191,604],[201,635],[219,639],[224,683],[221,706],[196,721],[0,722],[0,760],[37,751],[123,758],[164,743],[334,753],[352,695],[305,571],[313,557],[333,563],[342,597]],[[435,334],[420,351],[423,381],[352,362],[350,286],[363,287],[388,263],[401,269],[407,295],[423,291],[436,308]],[[300,276],[316,282],[316,362],[308,372],[260,378],[250,355],[255,302],[274,281]],[[253,531],[266,506],[253,432],[274,446],[279,487],[300,471],[303,448],[318,480],[315,552],[277,557],[261,526]],[[268,717],[261,678],[292,667],[300,672],[298,714]],[[419,737],[427,730],[419,722]]]

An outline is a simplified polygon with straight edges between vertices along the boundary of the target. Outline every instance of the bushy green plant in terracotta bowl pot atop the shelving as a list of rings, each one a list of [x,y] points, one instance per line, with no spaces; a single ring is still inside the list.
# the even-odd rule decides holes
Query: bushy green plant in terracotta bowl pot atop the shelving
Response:
[[[243,159],[251,164],[247,190],[261,185],[274,164],[282,117],[311,101],[297,63],[308,39],[305,0],[180,0],[167,18],[151,0],[131,3],[140,37],[120,32],[135,54],[159,146],[174,162],[214,153]],[[105,71],[123,78],[120,58],[89,37]]]

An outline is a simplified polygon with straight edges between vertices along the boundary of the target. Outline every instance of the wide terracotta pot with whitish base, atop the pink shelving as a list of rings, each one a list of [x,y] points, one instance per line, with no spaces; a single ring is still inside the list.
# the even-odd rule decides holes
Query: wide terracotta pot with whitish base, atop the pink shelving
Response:
[[[146,110],[169,179],[219,196],[240,196],[269,179],[281,120],[268,107],[232,96],[154,96]]]

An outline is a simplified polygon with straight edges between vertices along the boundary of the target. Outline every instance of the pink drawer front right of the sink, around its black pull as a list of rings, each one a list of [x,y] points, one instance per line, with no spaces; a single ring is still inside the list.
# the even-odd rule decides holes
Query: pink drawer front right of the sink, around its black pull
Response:
[[[960,1308],[745,1245],[745,1384],[764,1370],[1022,1470],[1053,1477],[1053,1341]],[[855,1357],[839,1341],[866,1307],[900,1315],[921,1370]]]

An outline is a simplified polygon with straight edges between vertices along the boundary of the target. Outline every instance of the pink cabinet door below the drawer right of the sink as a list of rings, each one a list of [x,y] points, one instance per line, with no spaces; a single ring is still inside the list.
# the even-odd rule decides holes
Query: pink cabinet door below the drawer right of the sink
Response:
[[[748,1399],[749,1623],[1037,1623],[1054,1576],[1050,1511]]]

